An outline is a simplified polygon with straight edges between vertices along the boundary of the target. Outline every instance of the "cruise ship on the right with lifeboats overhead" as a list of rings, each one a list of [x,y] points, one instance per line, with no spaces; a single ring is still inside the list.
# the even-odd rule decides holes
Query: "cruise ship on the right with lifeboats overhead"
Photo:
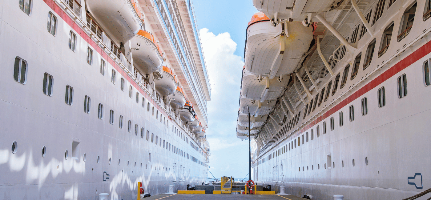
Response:
[[[251,3],[236,135],[252,179],[316,200],[430,188],[431,1]]]

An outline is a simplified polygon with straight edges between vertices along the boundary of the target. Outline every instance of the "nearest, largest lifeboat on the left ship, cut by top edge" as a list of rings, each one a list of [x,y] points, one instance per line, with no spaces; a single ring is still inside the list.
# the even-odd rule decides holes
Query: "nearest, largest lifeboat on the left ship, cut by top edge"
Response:
[[[112,42],[120,47],[125,44],[142,26],[135,5],[128,0],[87,0],[85,6],[88,12],[109,35]]]

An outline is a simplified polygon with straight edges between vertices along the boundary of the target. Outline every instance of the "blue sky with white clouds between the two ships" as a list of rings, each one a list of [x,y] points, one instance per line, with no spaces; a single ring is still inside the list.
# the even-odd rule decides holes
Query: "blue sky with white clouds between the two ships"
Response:
[[[245,33],[257,10],[251,0],[193,0],[193,4],[212,84],[206,131],[211,148],[209,170],[215,178],[244,178],[248,141],[236,137],[236,126]]]

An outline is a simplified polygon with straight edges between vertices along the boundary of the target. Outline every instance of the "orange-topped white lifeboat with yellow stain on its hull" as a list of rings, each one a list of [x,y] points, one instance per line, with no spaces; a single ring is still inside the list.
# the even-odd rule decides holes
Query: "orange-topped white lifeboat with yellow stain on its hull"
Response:
[[[253,15],[247,27],[244,58],[248,72],[272,79],[294,72],[309,50],[313,30],[302,22],[274,27],[268,21],[262,12]],[[285,34],[279,35],[282,30]]]

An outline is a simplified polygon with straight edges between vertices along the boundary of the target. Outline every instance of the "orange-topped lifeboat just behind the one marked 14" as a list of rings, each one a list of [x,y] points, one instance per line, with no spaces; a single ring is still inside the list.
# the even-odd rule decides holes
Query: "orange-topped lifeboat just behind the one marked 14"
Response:
[[[160,79],[160,80],[159,80]],[[154,80],[157,91],[163,96],[174,94],[178,88],[177,80],[172,70],[167,66],[162,66],[162,77]]]

